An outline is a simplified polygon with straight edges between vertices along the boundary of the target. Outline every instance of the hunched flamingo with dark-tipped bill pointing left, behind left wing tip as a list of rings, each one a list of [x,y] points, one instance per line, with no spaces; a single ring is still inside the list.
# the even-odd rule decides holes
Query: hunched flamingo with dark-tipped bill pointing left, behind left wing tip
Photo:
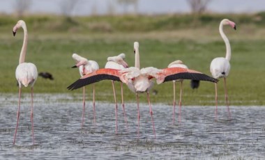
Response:
[[[91,72],[95,72],[99,69],[98,63],[96,61],[87,60],[86,58],[79,56],[78,54],[73,54],[73,59],[77,62],[76,65],[73,67],[79,67],[79,73],[82,76],[89,74]],[[81,127],[84,125],[84,108],[86,105],[85,100],[85,92],[83,87],[83,111],[82,111],[82,123]],[[95,109],[95,86],[93,86],[93,117],[94,117],[94,124],[96,125],[96,109]]]

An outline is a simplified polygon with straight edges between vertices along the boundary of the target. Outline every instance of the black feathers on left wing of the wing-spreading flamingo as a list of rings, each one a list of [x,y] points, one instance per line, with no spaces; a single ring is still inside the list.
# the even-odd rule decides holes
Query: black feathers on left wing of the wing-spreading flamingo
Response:
[[[96,83],[98,81],[103,81],[103,80],[112,80],[112,81],[121,81],[119,77],[112,76],[109,74],[97,74],[91,77],[87,77],[85,79],[77,79],[74,83],[72,83],[70,86],[68,86],[68,90],[75,90],[78,88],[81,88],[83,86],[89,85],[91,83]]]

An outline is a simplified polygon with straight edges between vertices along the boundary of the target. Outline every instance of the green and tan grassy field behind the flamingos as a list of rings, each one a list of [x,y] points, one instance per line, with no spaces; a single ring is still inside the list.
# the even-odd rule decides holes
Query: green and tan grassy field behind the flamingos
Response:
[[[231,15],[237,31],[225,27],[232,45],[232,70],[227,79],[231,105],[264,105],[264,50],[265,33],[263,13],[256,15]],[[225,44],[220,38],[220,19],[229,15],[191,15],[75,17],[64,19],[56,16],[25,17],[29,32],[26,61],[35,63],[38,72],[50,72],[54,81],[38,78],[36,93],[79,94],[81,90],[66,87],[79,78],[79,72],[71,69],[75,63],[73,52],[97,61],[104,67],[107,57],[126,54],[126,61],[134,65],[133,42],[139,41],[141,67],[165,68],[181,59],[191,69],[211,75],[209,65],[218,56],[225,56]],[[230,19],[230,17],[229,17]],[[261,20],[260,20],[261,19]],[[1,67],[0,92],[17,93],[15,68],[22,47],[22,30],[13,38],[11,30],[17,19],[0,16]],[[184,82],[183,105],[214,105],[214,85],[202,82],[193,91],[190,81]],[[91,86],[87,86],[91,93]],[[120,89],[116,83],[116,90]],[[158,95],[151,95],[152,102],[172,103],[172,83],[155,85]],[[220,105],[225,105],[222,79],[218,85]],[[29,93],[29,88],[23,92]],[[134,102],[135,95],[125,87],[126,102]],[[177,94],[179,83],[177,83]],[[118,100],[120,92],[116,91]],[[91,94],[87,95],[91,99]],[[97,100],[112,102],[110,81],[96,83]],[[141,96],[146,102],[146,96]]]

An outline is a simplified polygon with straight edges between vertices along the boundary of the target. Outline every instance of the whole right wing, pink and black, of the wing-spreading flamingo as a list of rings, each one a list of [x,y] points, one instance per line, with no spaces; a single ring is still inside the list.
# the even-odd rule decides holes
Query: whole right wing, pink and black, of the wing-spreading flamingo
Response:
[[[189,70],[187,68],[182,67],[170,67],[162,69],[162,72],[159,73],[159,77],[157,78],[157,83],[164,83],[166,81],[173,81],[177,79],[192,79],[197,81],[211,81],[213,83],[218,83],[218,79],[214,79],[213,77],[209,77],[202,72],[198,72],[196,70]]]

